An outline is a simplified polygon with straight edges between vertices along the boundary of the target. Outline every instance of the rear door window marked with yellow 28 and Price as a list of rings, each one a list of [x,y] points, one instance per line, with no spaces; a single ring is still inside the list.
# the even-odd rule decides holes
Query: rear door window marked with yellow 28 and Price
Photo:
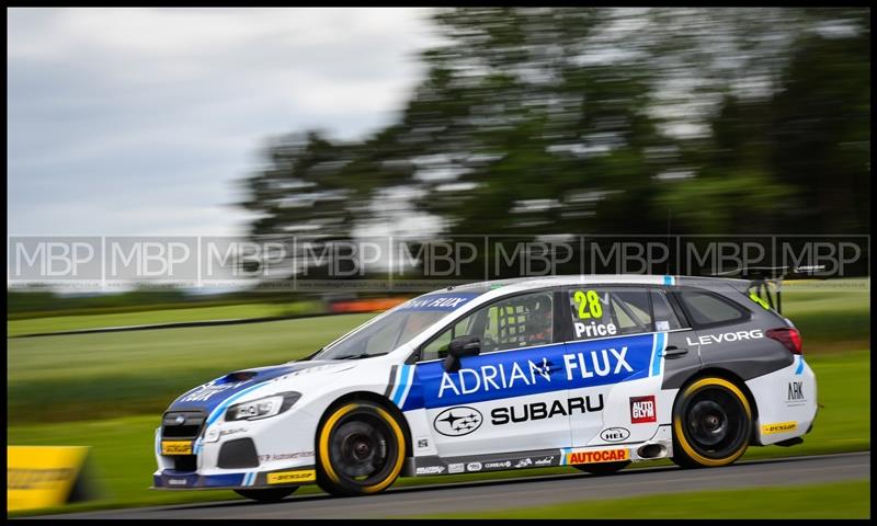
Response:
[[[569,291],[574,340],[652,331],[649,294],[639,288],[584,287]]]

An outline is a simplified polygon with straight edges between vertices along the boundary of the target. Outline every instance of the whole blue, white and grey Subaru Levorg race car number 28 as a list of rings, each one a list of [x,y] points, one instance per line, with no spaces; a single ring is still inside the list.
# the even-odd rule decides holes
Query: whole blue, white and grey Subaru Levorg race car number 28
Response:
[[[793,323],[751,288],[600,275],[420,296],[308,358],[182,395],[156,431],[155,488],[362,495],[399,476],[715,467],[798,444],[816,377]]]

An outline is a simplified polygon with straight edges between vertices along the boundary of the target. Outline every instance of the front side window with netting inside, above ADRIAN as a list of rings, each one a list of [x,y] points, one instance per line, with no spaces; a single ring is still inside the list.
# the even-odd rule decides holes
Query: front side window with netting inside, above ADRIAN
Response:
[[[551,293],[514,296],[482,307],[424,346],[420,359],[444,358],[451,341],[459,336],[478,336],[481,340],[481,353],[551,343]]]

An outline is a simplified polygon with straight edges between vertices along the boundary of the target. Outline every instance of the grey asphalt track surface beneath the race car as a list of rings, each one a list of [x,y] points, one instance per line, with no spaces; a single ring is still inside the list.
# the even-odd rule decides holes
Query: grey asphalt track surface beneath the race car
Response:
[[[870,451],[752,460],[717,469],[640,468],[606,477],[571,473],[399,488],[364,498],[293,494],[273,504],[236,500],[42,518],[389,518],[487,510],[505,510],[513,516],[514,507],[563,502],[864,479],[870,480]]]

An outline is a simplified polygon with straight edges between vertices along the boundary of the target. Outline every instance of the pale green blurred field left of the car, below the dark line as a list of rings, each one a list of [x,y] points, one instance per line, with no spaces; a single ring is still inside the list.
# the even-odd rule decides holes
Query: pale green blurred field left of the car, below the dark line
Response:
[[[7,340],[8,419],[155,414],[230,370],[307,356],[372,316]]]

